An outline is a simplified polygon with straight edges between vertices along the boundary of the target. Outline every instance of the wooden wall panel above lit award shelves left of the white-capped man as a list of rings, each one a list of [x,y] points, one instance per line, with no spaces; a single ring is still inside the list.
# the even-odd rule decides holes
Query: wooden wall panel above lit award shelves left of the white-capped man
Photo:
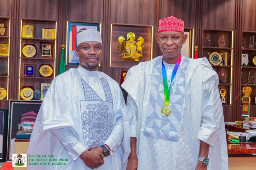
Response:
[[[19,17],[58,20],[59,0],[19,0]]]

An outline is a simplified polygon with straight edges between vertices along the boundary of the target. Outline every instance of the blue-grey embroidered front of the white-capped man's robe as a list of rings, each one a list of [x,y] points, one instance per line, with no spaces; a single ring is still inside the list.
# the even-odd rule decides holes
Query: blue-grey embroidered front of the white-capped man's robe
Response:
[[[100,80],[106,95],[106,102],[102,101],[95,91],[82,80],[85,94],[85,100],[80,101],[83,139],[89,148],[103,145],[113,127],[113,103],[110,87],[106,79],[101,78]]]

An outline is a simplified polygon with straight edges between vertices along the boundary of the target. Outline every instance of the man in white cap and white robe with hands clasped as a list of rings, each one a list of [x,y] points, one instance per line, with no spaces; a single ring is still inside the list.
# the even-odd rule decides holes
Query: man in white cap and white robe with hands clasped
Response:
[[[81,29],[76,51],[79,67],[54,78],[28,148],[29,155],[54,155],[68,161],[28,169],[121,170],[127,164],[129,116],[118,83],[97,71],[103,56],[100,33]]]

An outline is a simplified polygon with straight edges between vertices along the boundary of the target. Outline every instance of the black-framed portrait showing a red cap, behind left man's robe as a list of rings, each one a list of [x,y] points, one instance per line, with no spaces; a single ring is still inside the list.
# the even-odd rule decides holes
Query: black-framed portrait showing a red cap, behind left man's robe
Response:
[[[17,132],[23,125],[35,123],[36,115],[39,112],[42,101],[38,100],[10,100],[8,114],[8,141],[7,141],[7,161],[12,159],[14,154],[14,140]],[[29,120],[26,120],[29,117]],[[33,117],[31,119],[31,117]]]

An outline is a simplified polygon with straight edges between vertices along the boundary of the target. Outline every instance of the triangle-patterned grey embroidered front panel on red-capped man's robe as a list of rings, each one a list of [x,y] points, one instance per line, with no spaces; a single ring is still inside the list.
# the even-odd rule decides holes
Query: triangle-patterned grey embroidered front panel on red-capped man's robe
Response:
[[[147,108],[147,118],[143,134],[144,136],[177,142],[181,126],[185,93],[185,72],[188,65],[188,58],[184,59],[184,62],[180,65],[182,70],[180,71],[180,74],[177,73],[176,75],[179,76],[179,78],[176,79],[178,85],[174,94],[170,94],[169,106],[172,113],[168,117],[163,117],[161,115],[161,108],[164,106],[161,62],[162,58],[157,60],[154,66],[152,85],[150,88],[150,99]]]

